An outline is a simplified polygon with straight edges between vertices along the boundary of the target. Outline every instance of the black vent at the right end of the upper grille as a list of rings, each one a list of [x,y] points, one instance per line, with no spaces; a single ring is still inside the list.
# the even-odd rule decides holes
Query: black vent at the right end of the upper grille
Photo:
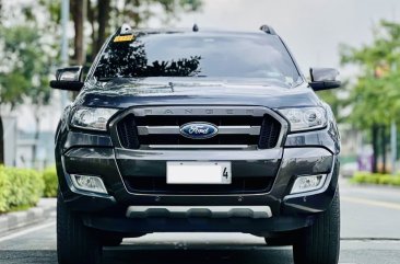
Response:
[[[260,139],[258,148],[271,149],[274,148],[281,133],[281,124],[270,115],[264,115],[261,125]]]

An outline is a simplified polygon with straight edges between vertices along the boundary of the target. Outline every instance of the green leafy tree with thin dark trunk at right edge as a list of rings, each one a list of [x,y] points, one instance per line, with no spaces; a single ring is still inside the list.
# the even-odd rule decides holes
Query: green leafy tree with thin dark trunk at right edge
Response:
[[[341,62],[360,68],[357,82],[350,93],[352,113],[349,120],[360,129],[369,129],[377,171],[379,149],[386,169],[387,130],[400,116],[400,24],[381,21],[374,31],[374,41],[361,48],[343,45]],[[379,140],[380,138],[380,140]]]

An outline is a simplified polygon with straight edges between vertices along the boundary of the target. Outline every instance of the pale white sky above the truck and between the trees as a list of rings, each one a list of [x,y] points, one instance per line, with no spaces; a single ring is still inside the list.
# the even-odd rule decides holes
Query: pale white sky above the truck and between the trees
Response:
[[[400,22],[400,0],[203,0],[199,13],[181,14],[178,27],[255,31],[262,24],[274,27],[294,54],[303,72],[309,67],[336,67],[342,77],[352,71],[340,67],[339,45],[361,46],[372,41],[379,20]],[[162,27],[157,20],[150,27]],[[58,100],[56,100],[58,101]],[[19,127],[35,126],[30,107],[21,108]],[[20,115],[21,116],[21,115]],[[60,107],[44,113],[40,129],[54,130]]]

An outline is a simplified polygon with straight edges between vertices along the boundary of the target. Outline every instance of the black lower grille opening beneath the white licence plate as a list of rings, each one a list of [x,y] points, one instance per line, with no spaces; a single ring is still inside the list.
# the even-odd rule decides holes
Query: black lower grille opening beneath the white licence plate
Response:
[[[125,177],[125,184],[131,193],[144,194],[250,194],[269,192],[274,177],[233,176],[232,184],[167,184],[165,177],[133,176]]]

